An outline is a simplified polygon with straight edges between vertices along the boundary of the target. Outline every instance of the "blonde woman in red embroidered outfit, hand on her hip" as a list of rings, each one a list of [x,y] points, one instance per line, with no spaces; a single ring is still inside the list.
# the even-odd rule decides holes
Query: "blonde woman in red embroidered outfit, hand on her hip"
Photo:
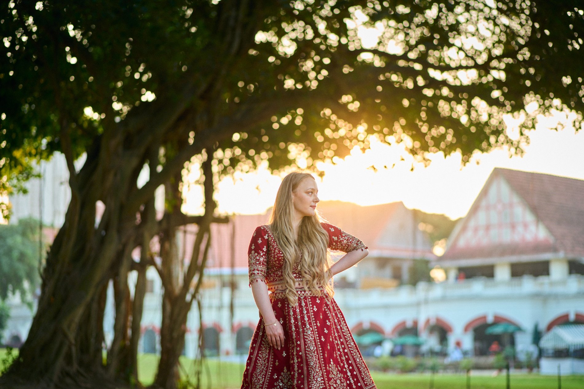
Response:
[[[249,243],[260,320],[242,389],[376,388],[329,282],[369,252],[356,237],[320,222],[317,194],[310,174],[288,174],[270,224],[257,227]],[[327,248],[346,255],[333,264]]]

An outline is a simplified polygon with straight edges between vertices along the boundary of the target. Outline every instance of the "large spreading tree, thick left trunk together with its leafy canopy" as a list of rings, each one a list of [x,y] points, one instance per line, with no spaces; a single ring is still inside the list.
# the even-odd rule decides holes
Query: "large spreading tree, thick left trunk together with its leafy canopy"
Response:
[[[124,289],[128,253],[156,233],[145,222],[155,189],[194,155],[217,156],[216,175],[298,155],[311,166],[376,135],[420,159],[458,150],[468,161],[503,144],[521,152],[526,134],[510,138],[501,118],[532,100],[544,113],[575,110],[579,124],[579,10],[491,5],[10,1],[0,16],[0,190],[59,150],[72,199],[29,337],[2,380],[116,379],[123,357],[112,349],[103,367],[93,325],[105,285]],[[354,20],[377,26],[377,43],[362,43]],[[150,179],[138,187],[145,164]],[[97,201],[105,212],[95,226]]]

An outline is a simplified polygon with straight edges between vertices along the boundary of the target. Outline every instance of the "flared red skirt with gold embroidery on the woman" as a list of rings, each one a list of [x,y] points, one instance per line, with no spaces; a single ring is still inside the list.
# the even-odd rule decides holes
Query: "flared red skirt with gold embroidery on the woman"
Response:
[[[281,292],[270,300],[284,328],[284,346],[269,345],[260,318],[241,389],[377,388],[332,297],[301,290],[294,307]]]

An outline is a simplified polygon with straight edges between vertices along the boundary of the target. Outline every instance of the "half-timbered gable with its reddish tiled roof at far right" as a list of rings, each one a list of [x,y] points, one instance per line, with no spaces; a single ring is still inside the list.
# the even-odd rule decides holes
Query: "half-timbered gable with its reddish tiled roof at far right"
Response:
[[[584,181],[497,168],[437,263],[450,278],[582,272]]]

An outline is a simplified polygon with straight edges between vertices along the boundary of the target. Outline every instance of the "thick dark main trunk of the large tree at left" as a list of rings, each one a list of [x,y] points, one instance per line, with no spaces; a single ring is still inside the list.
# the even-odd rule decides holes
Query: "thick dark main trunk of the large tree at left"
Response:
[[[37,312],[19,359],[0,379],[71,386],[84,377],[104,376],[102,363],[105,289],[120,249],[133,240],[134,213],[125,212],[119,191],[135,187],[139,160],[110,155],[111,166],[98,163],[99,147],[88,153],[75,180],[65,223],[48,253]],[[99,169],[98,169],[99,167]],[[95,226],[96,201],[106,204]]]

